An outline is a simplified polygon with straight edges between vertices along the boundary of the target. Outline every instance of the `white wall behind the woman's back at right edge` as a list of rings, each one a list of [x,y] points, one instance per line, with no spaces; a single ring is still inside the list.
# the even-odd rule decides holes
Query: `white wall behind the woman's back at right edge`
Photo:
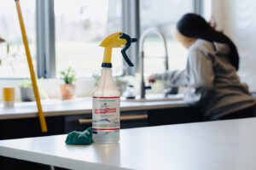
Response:
[[[256,1],[212,0],[218,25],[236,44],[240,54],[241,82],[256,91]]]

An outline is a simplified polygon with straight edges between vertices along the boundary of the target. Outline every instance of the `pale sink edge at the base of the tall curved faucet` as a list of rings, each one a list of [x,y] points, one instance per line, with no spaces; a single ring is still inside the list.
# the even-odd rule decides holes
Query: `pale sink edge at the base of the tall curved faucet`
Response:
[[[147,94],[145,99],[140,99],[140,96],[137,96],[136,99],[125,99],[121,98],[123,102],[161,102],[161,101],[177,101],[183,100],[184,94],[172,94],[167,97],[165,94]]]

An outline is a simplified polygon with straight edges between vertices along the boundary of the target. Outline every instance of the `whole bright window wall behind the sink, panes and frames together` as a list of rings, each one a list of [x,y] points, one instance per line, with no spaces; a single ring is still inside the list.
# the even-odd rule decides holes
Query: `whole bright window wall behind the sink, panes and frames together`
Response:
[[[173,41],[172,26],[182,14],[194,12],[195,2],[201,1],[134,0],[131,1],[132,4],[127,2],[121,0],[20,1],[34,69],[38,75],[55,77],[58,76],[59,71],[72,66],[77,71],[78,77],[90,77],[101,67],[104,48],[99,47],[100,42],[116,31],[125,31],[131,37],[139,37],[138,24],[141,32],[151,26],[160,28],[167,37],[169,69],[183,68],[187,52],[182,45]],[[140,23],[136,20],[138,15],[135,13],[138,3],[140,3]],[[127,8],[129,10],[124,12]],[[29,77],[15,2],[1,3],[0,20],[2,23],[0,37],[9,42],[9,55],[15,54],[15,57],[3,59],[7,55],[6,43],[0,44],[0,58],[3,59],[0,77]],[[160,39],[150,35],[144,47],[145,75],[158,72],[159,68],[164,71],[164,59],[147,58],[147,56],[157,57],[164,54]],[[133,48],[130,50],[131,56],[134,57],[137,55],[137,47],[131,48]],[[38,65],[36,65],[36,55]],[[113,49],[112,61],[113,74],[117,74],[123,66],[119,48]]]

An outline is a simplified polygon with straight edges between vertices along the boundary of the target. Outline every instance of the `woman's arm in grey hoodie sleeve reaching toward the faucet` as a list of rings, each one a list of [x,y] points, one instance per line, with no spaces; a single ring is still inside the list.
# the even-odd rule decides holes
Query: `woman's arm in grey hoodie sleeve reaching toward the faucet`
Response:
[[[164,81],[170,86],[212,89],[214,80],[212,60],[202,50],[190,49],[185,70],[154,74],[153,79]]]

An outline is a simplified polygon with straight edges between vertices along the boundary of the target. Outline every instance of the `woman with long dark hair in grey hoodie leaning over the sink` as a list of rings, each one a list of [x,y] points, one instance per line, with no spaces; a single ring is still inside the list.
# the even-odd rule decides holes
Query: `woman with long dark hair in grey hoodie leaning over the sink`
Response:
[[[236,74],[239,55],[230,38],[197,14],[184,14],[174,32],[189,49],[186,69],[154,74],[148,81],[188,86],[185,100],[198,106],[206,120],[254,116],[256,101]]]

